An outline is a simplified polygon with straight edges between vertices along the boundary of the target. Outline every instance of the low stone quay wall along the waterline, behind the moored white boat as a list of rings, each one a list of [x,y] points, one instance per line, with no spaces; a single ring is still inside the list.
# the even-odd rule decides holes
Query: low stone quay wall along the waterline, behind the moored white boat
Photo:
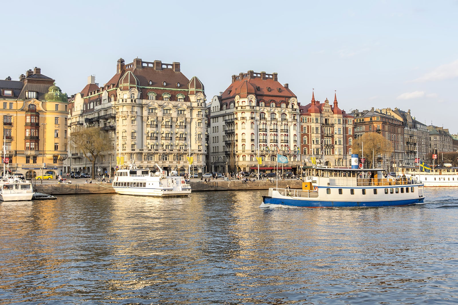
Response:
[[[75,181],[75,180],[73,180]],[[269,187],[276,187],[277,180],[255,180],[243,183],[240,180],[191,180],[193,192],[198,191],[240,191],[240,190],[268,190]],[[278,180],[278,187],[285,188],[289,185],[292,189],[301,189],[302,180]],[[74,195],[74,194],[109,194],[115,193],[111,183],[73,182],[72,184],[44,183],[33,186],[34,191],[50,195]]]

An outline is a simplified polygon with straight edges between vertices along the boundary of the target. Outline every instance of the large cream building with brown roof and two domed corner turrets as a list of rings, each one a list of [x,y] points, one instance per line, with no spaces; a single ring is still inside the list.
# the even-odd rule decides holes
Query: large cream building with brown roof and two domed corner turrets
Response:
[[[82,152],[71,147],[66,166],[113,174],[120,156],[125,166],[135,162],[150,168],[158,163],[164,170],[202,172],[207,153],[206,111],[202,82],[181,73],[179,62],[136,58],[125,64],[121,58],[107,83],[99,87],[90,76],[70,105],[70,126],[101,127],[109,134],[112,149],[97,160],[96,169],[90,169]]]

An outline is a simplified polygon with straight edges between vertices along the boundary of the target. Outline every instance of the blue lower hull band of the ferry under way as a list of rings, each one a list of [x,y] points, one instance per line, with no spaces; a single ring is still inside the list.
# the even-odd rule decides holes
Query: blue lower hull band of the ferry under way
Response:
[[[266,204],[281,204],[293,207],[400,207],[409,206],[417,203],[422,203],[425,197],[418,199],[404,199],[404,200],[385,200],[385,201],[371,201],[371,202],[355,202],[355,201],[318,201],[318,200],[303,200],[303,199],[287,199],[287,198],[273,198],[269,196],[262,196],[262,201]]]

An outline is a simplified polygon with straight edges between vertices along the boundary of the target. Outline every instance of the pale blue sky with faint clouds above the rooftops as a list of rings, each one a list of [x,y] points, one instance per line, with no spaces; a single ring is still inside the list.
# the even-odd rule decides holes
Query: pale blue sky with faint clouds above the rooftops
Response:
[[[70,96],[87,76],[108,82],[119,58],[177,61],[210,101],[234,74],[277,72],[302,105],[336,93],[347,113],[410,109],[458,133],[458,0],[25,0],[2,11],[2,79],[37,66]]]

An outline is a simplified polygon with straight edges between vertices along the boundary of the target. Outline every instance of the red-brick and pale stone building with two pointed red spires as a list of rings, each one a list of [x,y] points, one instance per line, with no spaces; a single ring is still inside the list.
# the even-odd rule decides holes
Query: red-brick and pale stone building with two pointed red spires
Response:
[[[354,117],[338,107],[334,93],[334,103],[315,100],[312,93],[311,103],[300,106],[300,150],[303,153],[303,165],[317,164],[347,167],[350,165],[351,146],[353,144]],[[324,160],[323,160],[324,156]]]

